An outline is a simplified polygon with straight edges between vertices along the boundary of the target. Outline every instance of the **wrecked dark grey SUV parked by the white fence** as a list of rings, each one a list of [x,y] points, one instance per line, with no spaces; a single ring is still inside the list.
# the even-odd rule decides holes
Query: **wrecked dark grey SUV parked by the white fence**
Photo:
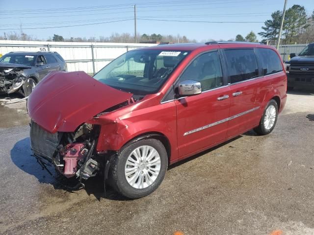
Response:
[[[28,96],[51,71],[67,71],[57,52],[10,52],[0,57],[0,94]]]

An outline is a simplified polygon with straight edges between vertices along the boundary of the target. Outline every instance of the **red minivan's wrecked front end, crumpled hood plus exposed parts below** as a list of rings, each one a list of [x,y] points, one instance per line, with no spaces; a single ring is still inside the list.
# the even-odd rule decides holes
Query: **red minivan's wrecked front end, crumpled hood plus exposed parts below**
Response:
[[[97,150],[98,140],[104,141],[104,136],[100,138],[104,123],[92,120],[132,102],[132,94],[82,71],[50,73],[36,85],[27,102],[34,156],[43,168],[50,164],[65,177],[78,178],[80,186],[81,180],[98,173],[104,173],[106,179],[115,153]]]

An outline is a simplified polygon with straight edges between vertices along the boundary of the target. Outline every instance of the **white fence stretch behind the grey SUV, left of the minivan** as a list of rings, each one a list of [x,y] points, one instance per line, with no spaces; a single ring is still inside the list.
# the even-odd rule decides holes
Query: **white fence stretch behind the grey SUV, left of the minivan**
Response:
[[[139,43],[70,43],[0,40],[0,54],[4,55],[10,51],[56,51],[67,62],[68,71],[95,73],[128,50],[155,45]]]

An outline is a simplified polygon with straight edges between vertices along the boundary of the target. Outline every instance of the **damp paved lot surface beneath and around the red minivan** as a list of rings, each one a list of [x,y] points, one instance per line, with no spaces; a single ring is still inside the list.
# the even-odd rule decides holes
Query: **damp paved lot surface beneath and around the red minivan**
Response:
[[[3,101],[3,96],[1,101]],[[99,178],[69,192],[31,157],[25,102],[0,105],[0,234],[314,234],[314,94],[294,91],[268,136],[248,132],[170,166],[127,200]]]

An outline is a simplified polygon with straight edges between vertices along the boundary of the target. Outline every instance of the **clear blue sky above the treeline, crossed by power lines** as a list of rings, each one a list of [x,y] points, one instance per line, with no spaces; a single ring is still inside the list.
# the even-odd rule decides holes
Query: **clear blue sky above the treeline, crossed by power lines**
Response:
[[[22,30],[37,39],[134,34],[134,4],[140,34],[185,35],[199,42],[245,37],[262,31],[263,22],[284,0],[0,0],[0,35]],[[288,0],[311,15],[314,0]],[[175,21],[175,22],[174,22]],[[192,21],[192,22],[186,22]],[[245,23],[243,23],[245,22]],[[81,25],[88,24],[88,25]],[[79,25],[79,26],[74,26]],[[61,27],[67,26],[67,27]],[[36,29],[29,29],[36,28]],[[261,40],[259,35],[258,39]]]

